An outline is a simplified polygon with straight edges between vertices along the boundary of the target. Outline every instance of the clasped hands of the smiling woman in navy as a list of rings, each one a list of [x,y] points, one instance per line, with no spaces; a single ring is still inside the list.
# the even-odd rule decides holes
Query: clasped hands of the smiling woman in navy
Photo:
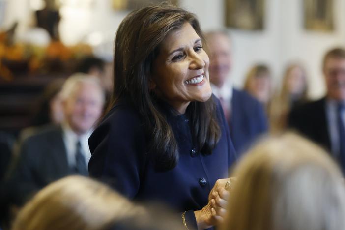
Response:
[[[223,222],[227,213],[229,191],[225,189],[229,179],[219,179],[213,186],[208,203],[201,210],[195,211],[198,230],[208,229]]]

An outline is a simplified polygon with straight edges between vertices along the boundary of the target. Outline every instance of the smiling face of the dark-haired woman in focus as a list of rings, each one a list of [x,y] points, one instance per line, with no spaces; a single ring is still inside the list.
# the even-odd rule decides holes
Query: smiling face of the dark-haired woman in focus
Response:
[[[201,38],[189,23],[167,36],[153,62],[150,88],[184,114],[191,101],[207,101],[211,94],[209,58]]]

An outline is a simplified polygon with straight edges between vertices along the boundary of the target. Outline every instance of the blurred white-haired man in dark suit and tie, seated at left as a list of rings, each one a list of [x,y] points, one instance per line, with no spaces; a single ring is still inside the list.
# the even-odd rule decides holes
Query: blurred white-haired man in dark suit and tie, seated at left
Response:
[[[86,74],[68,78],[61,90],[64,121],[27,137],[19,148],[10,180],[18,204],[52,181],[69,174],[88,175],[87,139],[102,113],[104,94],[97,79]]]

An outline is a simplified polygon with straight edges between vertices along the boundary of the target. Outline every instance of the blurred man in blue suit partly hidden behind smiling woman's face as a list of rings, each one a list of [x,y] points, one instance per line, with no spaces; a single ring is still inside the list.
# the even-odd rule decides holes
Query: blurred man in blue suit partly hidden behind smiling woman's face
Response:
[[[220,99],[230,135],[237,153],[247,150],[267,131],[267,117],[262,105],[248,93],[233,88],[231,42],[227,34],[217,31],[206,34],[210,58],[212,92]]]

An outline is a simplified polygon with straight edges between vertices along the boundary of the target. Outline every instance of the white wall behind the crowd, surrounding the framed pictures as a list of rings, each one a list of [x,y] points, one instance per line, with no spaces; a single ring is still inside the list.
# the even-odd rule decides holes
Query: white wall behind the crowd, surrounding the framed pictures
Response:
[[[15,18],[28,24],[25,18],[30,15],[29,0],[7,1],[5,20],[0,26],[6,27]],[[73,0],[84,6],[61,10],[60,34],[67,44],[74,44],[85,39],[91,33],[106,34],[108,45],[101,47],[101,52],[111,57],[112,40],[119,23],[128,12],[115,12],[110,0]],[[345,0],[334,0],[336,31],[320,33],[305,31],[302,27],[302,0],[266,0],[265,29],[263,31],[241,31],[229,29],[233,43],[232,78],[236,86],[242,86],[244,76],[255,63],[268,64],[276,83],[280,82],[284,66],[299,60],[307,68],[310,82],[310,96],[320,97],[324,85],[320,63],[324,52],[336,45],[345,46]],[[182,7],[194,12],[199,17],[204,30],[224,29],[224,0],[180,0]],[[98,34],[99,33],[94,33]]]

